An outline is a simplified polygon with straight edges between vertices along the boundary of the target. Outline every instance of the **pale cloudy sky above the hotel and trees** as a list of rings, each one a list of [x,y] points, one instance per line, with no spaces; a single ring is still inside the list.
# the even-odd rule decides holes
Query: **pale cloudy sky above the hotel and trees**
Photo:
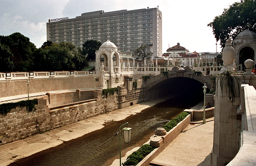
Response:
[[[0,0],[0,35],[20,32],[39,48],[46,42],[49,19],[159,6],[163,53],[178,42],[190,52],[221,52],[207,24],[234,2],[240,0]]]

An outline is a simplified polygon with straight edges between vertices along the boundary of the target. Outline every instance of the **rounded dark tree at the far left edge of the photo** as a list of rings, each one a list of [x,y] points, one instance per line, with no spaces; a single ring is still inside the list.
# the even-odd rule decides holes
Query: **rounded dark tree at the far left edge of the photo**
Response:
[[[12,62],[13,54],[10,48],[0,43],[0,72],[11,72],[14,69]]]

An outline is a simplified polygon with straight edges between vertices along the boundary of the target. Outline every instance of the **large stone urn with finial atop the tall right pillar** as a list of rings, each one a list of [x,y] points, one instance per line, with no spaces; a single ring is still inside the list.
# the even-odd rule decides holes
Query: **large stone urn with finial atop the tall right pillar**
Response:
[[[228,41],[223,48],[222,60],[224,66],[230,66],[231,64],[233,64],[233,62],[235,62],[235,49],[232,47],[230,38],[228,38]]]

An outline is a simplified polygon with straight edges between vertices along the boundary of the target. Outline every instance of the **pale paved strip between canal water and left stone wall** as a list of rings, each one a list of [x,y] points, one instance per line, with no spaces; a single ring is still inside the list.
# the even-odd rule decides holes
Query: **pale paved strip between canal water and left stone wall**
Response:
[[[166,99],[158,99],[154,101],[141,102],[132,106],[114,110],[106,114],[88,118],[76,123],[72,123],[61,128],[56,128],[49,132],[30,136],[23,140],[17,140],[0,146],[0,166],[8,164],[42,150],[58,146],[63,141],[69,141],[89,132],[103,128],[103,124],[111,121],[120,121],[130,115],[140,113],[142,110],[163,102]]]

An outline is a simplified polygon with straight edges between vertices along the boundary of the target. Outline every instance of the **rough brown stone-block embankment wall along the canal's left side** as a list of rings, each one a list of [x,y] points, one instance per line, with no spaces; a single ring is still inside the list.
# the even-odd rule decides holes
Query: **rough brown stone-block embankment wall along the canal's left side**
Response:
[[[102,91],[99,96],[102,96]],[[117,94],[51,109],[47,98],[38,99],[38,105],[32,112],[24,106],[0,114],[0,145],[118,109]]]

